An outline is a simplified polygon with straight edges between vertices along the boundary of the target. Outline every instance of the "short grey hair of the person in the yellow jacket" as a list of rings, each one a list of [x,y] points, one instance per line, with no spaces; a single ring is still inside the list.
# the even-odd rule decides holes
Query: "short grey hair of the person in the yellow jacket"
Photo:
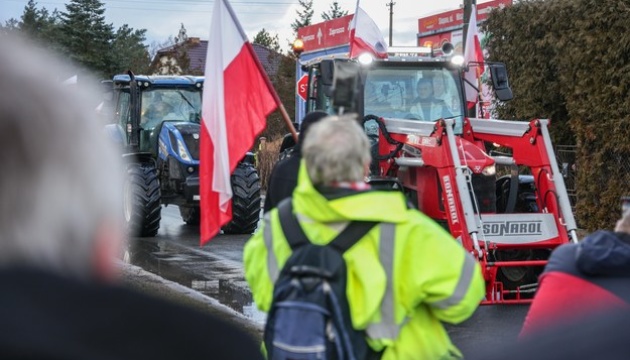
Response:
[[[313,185],[360,181],[370,162],[370,143],[356,116],[329,116],[309,128],[302,157]]]

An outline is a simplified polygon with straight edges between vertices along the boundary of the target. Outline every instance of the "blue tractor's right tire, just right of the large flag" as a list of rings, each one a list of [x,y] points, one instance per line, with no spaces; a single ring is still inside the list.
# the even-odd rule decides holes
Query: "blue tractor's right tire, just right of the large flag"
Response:
[[[260,219],[260,178],[251,164],[240,163],[232,174],[232,221],[225,234],[251,234]]]

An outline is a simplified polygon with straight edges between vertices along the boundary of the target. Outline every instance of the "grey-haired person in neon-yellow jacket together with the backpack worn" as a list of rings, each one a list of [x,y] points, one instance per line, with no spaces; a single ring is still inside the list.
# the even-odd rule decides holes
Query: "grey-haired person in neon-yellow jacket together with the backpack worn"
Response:
[[[335,345],[360,360],[461,358],[442,322],[460,323],[479,305],[479,263],[402,192],[369,187],[370,145],[355,117],[311,126],[302,157],[292,197],[265,214],[243,253],[254,301],[269,312],[272,358],[316,358]],[[317,289],[334,301],[316,303]],[[315,310],[322,306],[332,312]]]

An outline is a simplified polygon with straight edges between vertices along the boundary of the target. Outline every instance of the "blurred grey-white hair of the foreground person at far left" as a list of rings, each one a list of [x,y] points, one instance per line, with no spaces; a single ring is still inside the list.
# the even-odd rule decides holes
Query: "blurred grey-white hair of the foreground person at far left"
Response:
[[[124,168],[95,111],[98,81],[62,84],[85,74],[70,68],[0,37],[0,266],[90,277],[97,232],[121,224]]]

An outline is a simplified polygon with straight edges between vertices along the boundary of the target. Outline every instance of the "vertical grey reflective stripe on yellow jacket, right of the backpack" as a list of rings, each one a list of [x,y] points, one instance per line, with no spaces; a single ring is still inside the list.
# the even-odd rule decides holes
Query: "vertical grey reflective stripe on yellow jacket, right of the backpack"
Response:
[[[381,322],[370,324],[365,330],[372,339],[396,339],[402,325],[396,325],[394,317],[394,239],[396,238],[396,226],[392,223],[381,223],[381,234],[379,239],[379,260],[387,283],[385,285],[385,295],[381,302]]]

